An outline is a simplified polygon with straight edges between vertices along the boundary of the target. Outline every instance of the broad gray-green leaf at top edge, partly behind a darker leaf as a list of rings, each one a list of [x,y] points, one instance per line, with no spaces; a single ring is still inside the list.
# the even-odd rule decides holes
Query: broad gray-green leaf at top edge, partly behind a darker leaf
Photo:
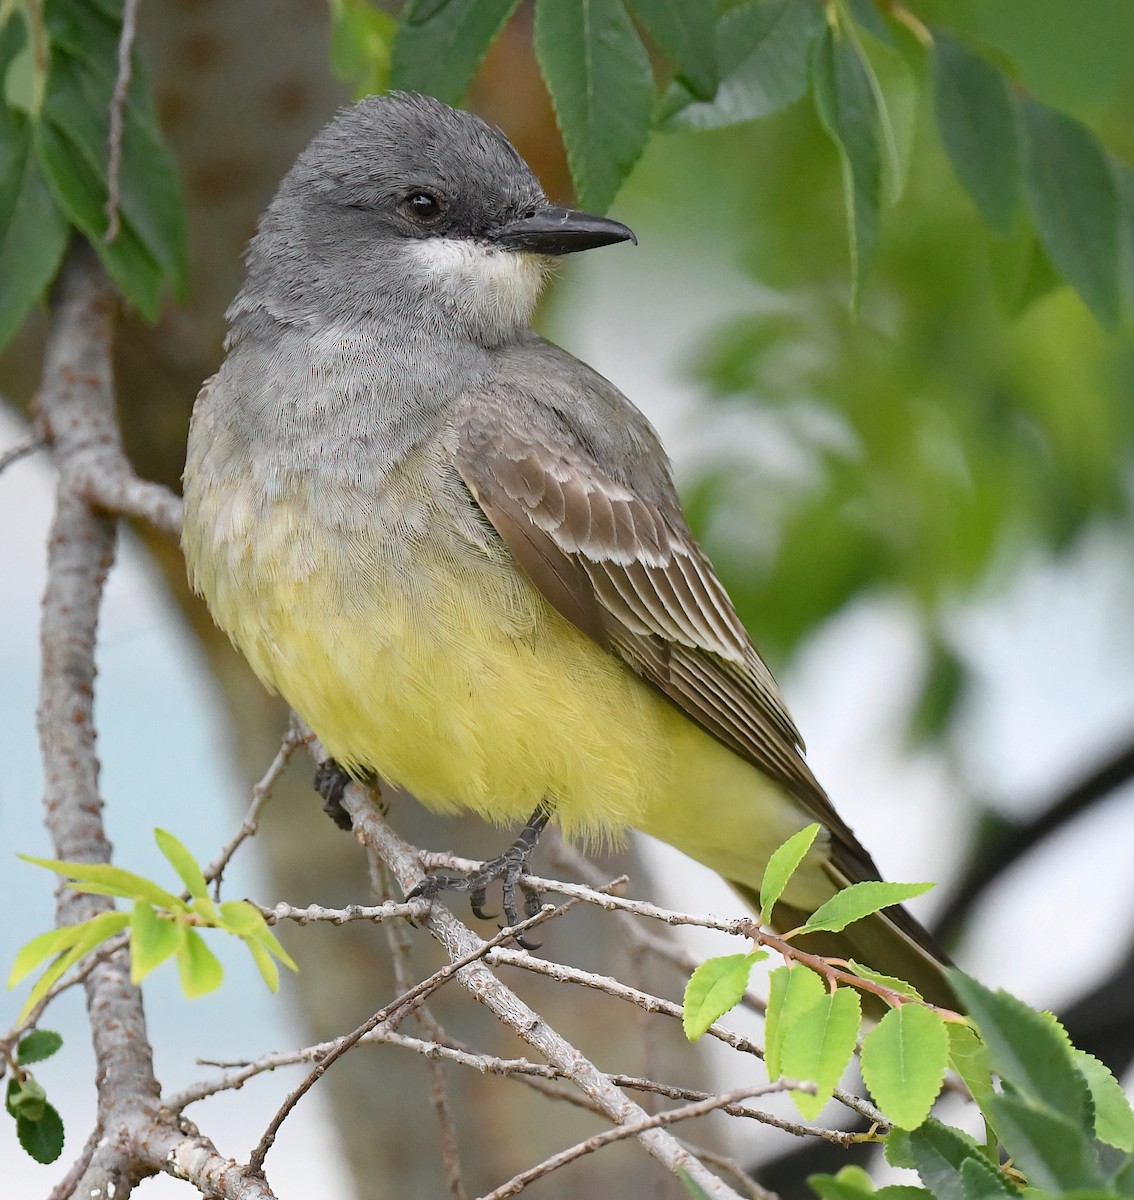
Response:
[[[808,90],[808,55],[823,24],[814,0],[748,0],[716,22],[721,82],[710,102],[673,83],[664,130],[714,130],[779,112]]]

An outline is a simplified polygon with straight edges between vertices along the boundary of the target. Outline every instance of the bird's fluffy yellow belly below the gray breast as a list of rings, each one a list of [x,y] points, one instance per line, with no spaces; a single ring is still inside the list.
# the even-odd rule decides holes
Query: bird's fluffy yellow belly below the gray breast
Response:
[[[550,800],[568,836],[642,829],[752,887],[805,823],[552,608],[503,547],[427,539],[394,566],[293,521],[229,546],[223,570],[215,551],[191,554],[214,614],[348,769],[498,823]],[[817,904],[830,889],[812,883]]]

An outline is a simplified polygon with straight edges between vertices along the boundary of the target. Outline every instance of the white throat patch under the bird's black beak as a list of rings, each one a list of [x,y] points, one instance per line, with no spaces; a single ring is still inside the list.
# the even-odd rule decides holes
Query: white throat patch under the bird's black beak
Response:
[[[542,254],[457,238],[424,238],[413,253],[437,300],[482,336],[527,325],[550,272]]]

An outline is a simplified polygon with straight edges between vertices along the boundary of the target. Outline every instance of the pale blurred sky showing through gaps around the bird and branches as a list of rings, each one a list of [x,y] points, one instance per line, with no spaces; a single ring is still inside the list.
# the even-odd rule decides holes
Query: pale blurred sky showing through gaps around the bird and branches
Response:
[[[734,450],[738,436],[756,439],[767,432],[758,419],[737,419],[716,408],[714,424],[708,424],[696,392],[680,382],[698,332],[724,312],[766,298],[712,246],[691,244],[677,256],[662,253],[650,232],[664,227],[665,214],[641,198],[636,211],[619,215],[631,221],[642,245],[572,260],[552,331],[648,413],[680,474],[714,445]],[[19,437],[18,424],[0,413],[0,449]],[[754,446],[754,469],[775,450],[767,439]],[[52,919],[54,878],[14,858],[20,851],[50,853],[40,816],[34,716],[50,486],[43,454],[0,476],[0,902],[16,916],[0,926],[5,973],[18,944]],[[913,616],[900,602],[858,604],[810,640],[780,682],[808,739],[809,761],[887,876],[943,876],[955,864],[967,822],[964,780],[1006,809],[1025,811],[1129,737],[1132,595],[1134,554],[1117,532],[1099,530],[1063,563],[1037,557],[1003,594],[959,607],[958,644],[982,664],[982,682],[960,736],[942,752],[910,755],[901,745],[901,714],[916,694],[923,652]],[[758,644],[758,630],[754,632]],[[238,780],[228,769],[218,692],[128,536],[103,607],[98,665],[96,715],[109,833],[121,864],[162,880],[167,869],[152,845],[152,827],[169,828],[208,860],[236,828],[252,780]],[[1081,991],[1086,978],[1105,973],[1116,956],[1111,946],[1126,944],[1134,912],[1132,798],[1127,788],[1073,835],[1062,835],[1058,862],[1052,846],[1014,871],[986,905],[961,965],[1037,1004],[1058,1004]],[[665,881],[662,902],[737,911],[736,899],[710,872],[667,847],[652,847],[650,854],[665,864],[658,872]],[[238,858],[230,878],[232,895],[277,899],[265,895],[248,854]],[[932,904],[926,898],[922,911],[931,911]],[[1111,928],[1108,911],[1117,914]],[[724,948],[709,935],[691,941],[706,954]],[[244,1058],[298,1044],[298,1030],[288,1020],[287,980],[283,998],[274,998],[251,961],[226,950],[221,938],[211,944],[227,970],[217,995],[185,1001],[172,966],[145,983],[157,1072],[169,1088],[211,1074],[194,1064],[198,1056]],[[14,1020],[25,994],[22,988],[0,995],[0,1026]],[[59,1002],[44,1025],[66,1038],[60,1055],[36,1073],[62,1111],[67,1145],[59,1163],[37,1166],[19,1150],[13,1122],[0,1115],[5,1193],[20,1198],[47,1194],[94,1116],[79,995]],[[190,1109],[188,1116],[215,1136],[222,1153],[244,1158],[298,1078],[295,1070],[264,1076],[239,1093]],[[750,1154],[752,1130],[733,1128],[736,1148]],[[318,1088],[284,1127],[268,1168],[281,1200],[347,1194],[346,1181],[335,1177],[334,1139]],[[194,1193],[161,1177],[143,1183],[138,1194],[186,1200]]]

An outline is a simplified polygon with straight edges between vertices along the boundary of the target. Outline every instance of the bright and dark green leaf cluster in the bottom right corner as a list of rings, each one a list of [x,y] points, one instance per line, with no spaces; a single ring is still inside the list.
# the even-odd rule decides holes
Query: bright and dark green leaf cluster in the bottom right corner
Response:
[[[814,836],[815,828],[809,827],[773,856],[761,889],[761,919],[772,912]],[[788,948],[781,953],[791,956],[796,934],[844,929],[898,902],[910,887],[871,884],[870,899],[847,888],[799,930],[785,935]],[[684,1013],[691,1039],[739,1003],[752,966],[767,956],[767,950],[757,949],[710,959],[694,972]],[[967,1014],[961,1018],[922,1003],[901,980],[860,964],[848,967],[850,972],[828,966],[820,973],[788,961],[772,972],[764,1064],[772,1080],[808,1085],[793,1087],[792,1096],[800,1114],[815,1120],[858,1046],[863,1080],[890,1126],[884,1134],[887,1159],[916,1170],[923,1184],[882,1188],[877,1192],[882,1200],[1134,1195],[1134,1110],[1106,1067],[1075,1049],[1050,1013],[950,971]],[[890,1007],[859,1045],[862,1007],[856,988],[864,985],[875,985],[870,990]],[[980,1111],[983,1144],[930,1116],[949,1069]],[[860,1168],[810,1182],[821,1200],[868,1200],[876,1194]]]

